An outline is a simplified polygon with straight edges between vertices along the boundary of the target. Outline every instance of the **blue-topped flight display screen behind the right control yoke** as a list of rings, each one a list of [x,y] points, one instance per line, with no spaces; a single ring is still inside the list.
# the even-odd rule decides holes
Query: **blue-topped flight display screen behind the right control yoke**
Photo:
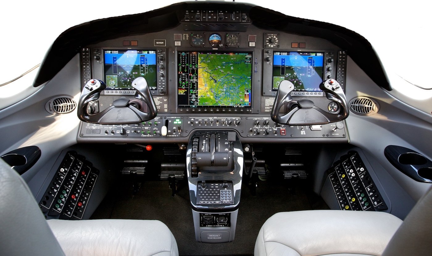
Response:
[[[273,91],[283,80],[294,84],[294,91],[320,92],[323,81],[324,53],[273,52]]]

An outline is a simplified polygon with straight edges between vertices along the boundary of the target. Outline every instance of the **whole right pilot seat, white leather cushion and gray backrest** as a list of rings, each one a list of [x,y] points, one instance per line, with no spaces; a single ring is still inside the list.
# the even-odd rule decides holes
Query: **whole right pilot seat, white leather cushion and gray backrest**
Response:
[[[258,234],[255,256],[423,256],[432,252],[432,186],[403,222],[385,212],[279,212]]]

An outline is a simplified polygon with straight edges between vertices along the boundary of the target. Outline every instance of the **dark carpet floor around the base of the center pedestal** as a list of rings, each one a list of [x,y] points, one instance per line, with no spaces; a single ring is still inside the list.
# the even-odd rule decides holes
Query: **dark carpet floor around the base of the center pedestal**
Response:
[[[297,189],[292,194],[284,184],[260,182],[256,196],[247,187],[241,190],[235,241],[204,244],[195,241],[190,204],[187,187],[172,197],[168,181],[148,181],[132,197],[130,183],[124,181],[108,193],[92,219],[156,219],[172,231],[180,255],[238,255],[254,253],[258,231],[276,212],[329,209],[308,190]]]

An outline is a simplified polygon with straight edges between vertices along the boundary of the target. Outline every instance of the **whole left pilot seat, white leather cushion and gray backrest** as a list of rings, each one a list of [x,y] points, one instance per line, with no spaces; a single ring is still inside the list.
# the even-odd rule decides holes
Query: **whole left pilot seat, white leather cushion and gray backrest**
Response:
[[[25,181],[1,159],[0,219],[1,255],[178,256],[159,221],[45,220]]]

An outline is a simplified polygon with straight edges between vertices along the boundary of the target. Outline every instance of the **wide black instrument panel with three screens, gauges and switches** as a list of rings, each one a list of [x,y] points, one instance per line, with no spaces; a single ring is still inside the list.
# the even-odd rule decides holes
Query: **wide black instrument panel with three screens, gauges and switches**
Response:
[[[204,17],[213,26],[194,28]],[[131,86],[137,77],[146,79],[158,114],[132,125],[82,122],[78,140],[187,142],[195,130],[228,129],[251,142],[348,142],[343,121],[290,126],[270,119],[283,80],[294,85],[293,99],[309,99],[337,114],[338,103],[328,100],[319,85],[333,78],[345,88],[343,49],[325,38],[265,31],[237,10],[188,10],[179,19],[176,28],[82,49],[83,85],[90,78],[107,85],[99,99],[89,103],[89,114],[102,112],[120,97],[145,109]]]

